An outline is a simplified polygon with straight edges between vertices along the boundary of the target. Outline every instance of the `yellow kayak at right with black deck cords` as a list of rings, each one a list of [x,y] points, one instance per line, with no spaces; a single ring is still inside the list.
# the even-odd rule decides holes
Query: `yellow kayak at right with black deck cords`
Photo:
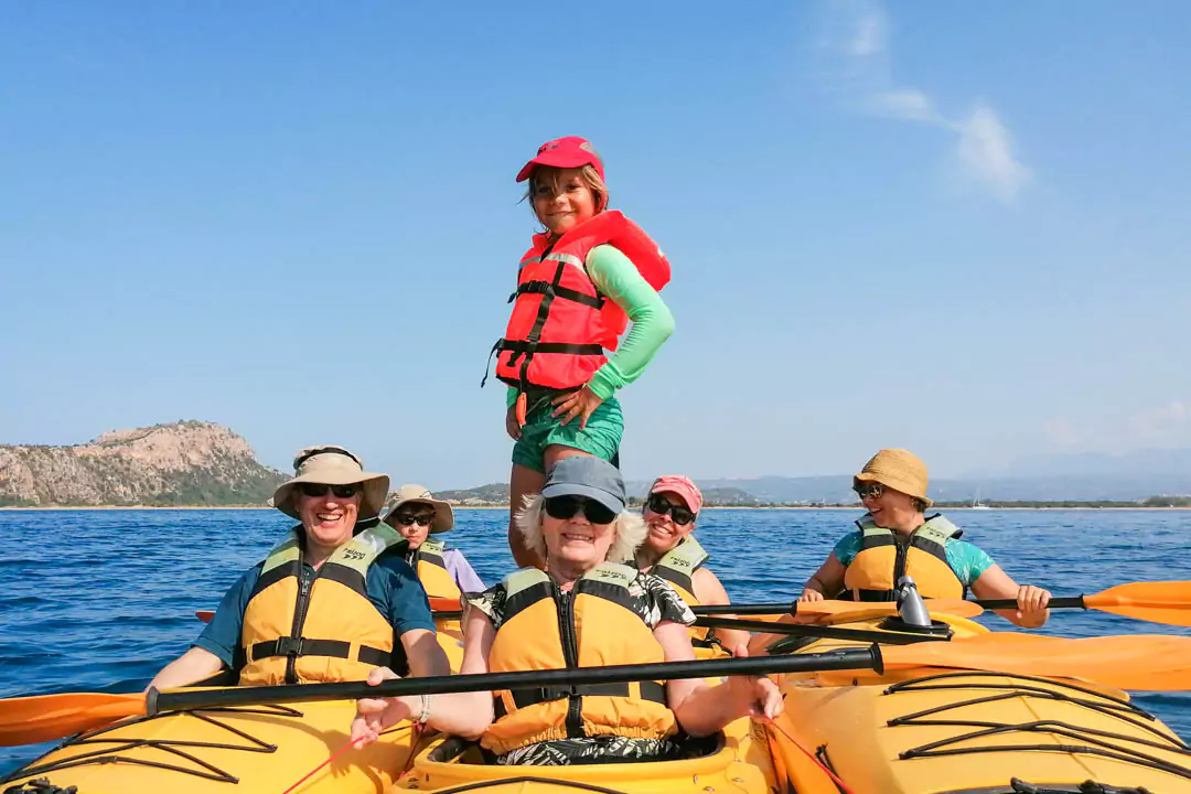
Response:
[[[956,638],[987,633],[931,617]],[[883,619],[855,612],[821,623],[878,629]],[[848,645],[821,639],[798,652]],[[1187,745],[1111,687],[916,668],[790,675],[781,689],[786,711],[768,729],[779,777],[784,767],[804,769],[810,751],[856,794],[1191,792]],[[786,780],[799,794],[838,794],[830,780]]]

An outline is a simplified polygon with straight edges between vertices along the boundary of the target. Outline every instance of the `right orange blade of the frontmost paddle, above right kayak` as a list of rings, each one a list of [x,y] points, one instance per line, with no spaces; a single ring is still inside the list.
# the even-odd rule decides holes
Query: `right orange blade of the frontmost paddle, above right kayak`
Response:
[[[1086,679],[1118,689],[1191,690],[1191,637],[1064,639],[996,632],[949,643],[881,646],[881,655],[886,669],[944,667]]]

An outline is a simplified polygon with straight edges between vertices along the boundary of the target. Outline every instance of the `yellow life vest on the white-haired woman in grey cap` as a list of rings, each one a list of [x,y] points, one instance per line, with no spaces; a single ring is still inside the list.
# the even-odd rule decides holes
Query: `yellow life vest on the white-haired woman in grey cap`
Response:
[[[488,669],[646,664],[666,655],[635,609],[629,586],[641,571],[605,563],[575,582],[569,596],[543,571],[524,568],[501,582],[505,615],[492,640]],[[623,736],[661,739],[676,730],[662,681],[548,687],[494,693],[497,719],[481,744],[503,755],[554,739]]]

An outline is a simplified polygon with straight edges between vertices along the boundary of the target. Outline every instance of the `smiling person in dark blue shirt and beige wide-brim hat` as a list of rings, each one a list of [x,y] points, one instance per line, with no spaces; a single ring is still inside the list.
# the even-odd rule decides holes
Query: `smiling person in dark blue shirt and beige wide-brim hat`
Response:
[[[380,664],[449,675],[425,592],[394,549],[404,538],[375,520],[387,490],[388,476],[366,471],[342,446],[301,450],[294,477],[272,500],[300,523],[232,584],[191,649],[151,686],[225,669],[242,684],[357,681]],[[300,634],[291,636],[295,625]]]

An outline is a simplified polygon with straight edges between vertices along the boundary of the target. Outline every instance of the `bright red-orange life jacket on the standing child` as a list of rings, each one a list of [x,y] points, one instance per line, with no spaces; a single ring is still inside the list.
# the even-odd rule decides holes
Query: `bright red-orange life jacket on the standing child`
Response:
[[[587,275],[587,252],[604,244],[629,257],[654,289],[669,282],[669,262],[657,244],[617,211],[601,212],[553,243],[535,235],[509,299],[509,327],[492,348],[497,377],[523,392],[569,389],[604,365],[604,350],[616,350],[629,321]]]

